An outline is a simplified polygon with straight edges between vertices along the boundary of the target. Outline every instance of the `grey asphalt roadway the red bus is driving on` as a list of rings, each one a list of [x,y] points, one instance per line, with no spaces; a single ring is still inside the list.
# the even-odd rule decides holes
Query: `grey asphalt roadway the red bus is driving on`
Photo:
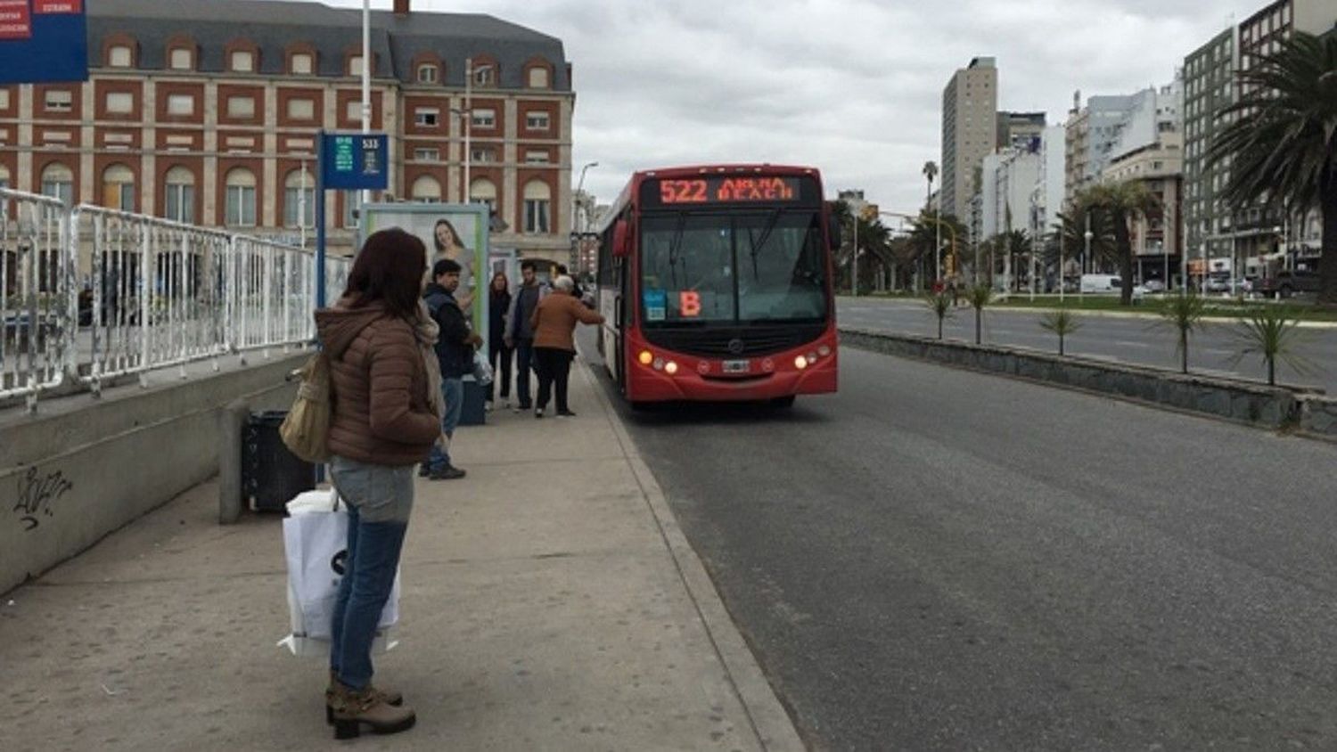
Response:
[[[814,748],[1337,748],[1337,446],[840,357],[790,410],[615,397]]]

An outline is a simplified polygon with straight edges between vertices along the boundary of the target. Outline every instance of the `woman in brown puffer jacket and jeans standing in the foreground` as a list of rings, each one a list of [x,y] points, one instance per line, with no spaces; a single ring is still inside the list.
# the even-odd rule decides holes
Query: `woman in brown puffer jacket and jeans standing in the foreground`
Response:
[[[397,692],[372,685],[372,638],[400,565],[413,466],[441,433],[436,325],[418,309],[425,270],[421,240],[382,230],[366,239],[338,303],[316,313],[330,358],[330,476],[349,506],[325,692],[338,739],[416,720]]]

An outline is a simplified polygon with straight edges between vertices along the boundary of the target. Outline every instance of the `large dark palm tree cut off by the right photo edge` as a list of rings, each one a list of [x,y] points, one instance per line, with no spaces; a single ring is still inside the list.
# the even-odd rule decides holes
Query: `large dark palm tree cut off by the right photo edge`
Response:
[[[1337,305],[1337,36],[1296,32],[1239,76],[1243,95],[1207,151],[1229,160],[1222,195],[1324,218],[1318,302]]]

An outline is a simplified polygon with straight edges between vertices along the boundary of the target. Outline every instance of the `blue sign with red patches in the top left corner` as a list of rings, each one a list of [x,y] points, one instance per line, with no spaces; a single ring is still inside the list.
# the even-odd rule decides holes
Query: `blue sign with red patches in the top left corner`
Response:
[[[0,0],[0,84],[86,80],[83,0]]]

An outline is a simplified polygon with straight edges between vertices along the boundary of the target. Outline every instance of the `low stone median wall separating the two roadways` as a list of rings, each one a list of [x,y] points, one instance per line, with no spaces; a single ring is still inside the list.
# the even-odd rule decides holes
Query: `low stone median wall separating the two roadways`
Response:
[[[1298,426],[1305,433],[1337,439],[1337,399],[1286,387],[857,329],[841,329],[841,343],[1098,391],[1259,427]]]

